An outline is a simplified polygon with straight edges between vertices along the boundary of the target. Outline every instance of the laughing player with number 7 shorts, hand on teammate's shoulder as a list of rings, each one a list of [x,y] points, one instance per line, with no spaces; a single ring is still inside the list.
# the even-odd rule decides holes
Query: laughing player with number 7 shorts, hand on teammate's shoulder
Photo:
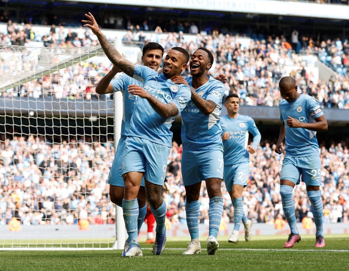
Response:
[[[216,254],[216,240],[223,213],[221,183],[223,178],[223,145],[219,125],[223,83],[207,75],[213,55],[206,48],[196,50],[190,59],[192,77],[177,76],[173,82],[191,89],[191,101],[181,113],[183,142],[182,176],[186,191],[186,218],[191,241],[183,254],[201,252],[199,242],[200,188],[206,181],[209,202],[209,236],[207,252]]]

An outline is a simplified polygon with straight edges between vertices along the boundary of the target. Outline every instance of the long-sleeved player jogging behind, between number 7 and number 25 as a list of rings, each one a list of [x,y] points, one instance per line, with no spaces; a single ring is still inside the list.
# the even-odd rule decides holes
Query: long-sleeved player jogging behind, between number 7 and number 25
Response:
[[[247,186],[250,154],[254,154],[261,140],[254,120],[238,114],[239,96],[230,94],[225,99],[228,115],[221,117],[223,130],[224,182],[234,206],[234,230],[228,241],[239,242],[240,222],[245,226],[245,240],[251,239],[252,221],[246,218],[242,202],[242,192]],[[252,145],[247,146],[248,132],[253,134]]]

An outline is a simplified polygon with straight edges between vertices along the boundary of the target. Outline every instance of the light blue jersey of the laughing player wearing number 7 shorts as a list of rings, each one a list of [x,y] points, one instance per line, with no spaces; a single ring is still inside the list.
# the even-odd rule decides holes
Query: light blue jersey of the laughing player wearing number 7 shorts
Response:
[[[195,90],[206,101],[216,103],[213,112],[205,116],[190,100],[183,109],[181,138],[184,150],[199,150],[222,144],[222,129],[220,126],[220,113],[222,110],[222,98],[225,86],[222,82],[208,76],[208,81]],[[192,77],[186,78],[188,85],[192,87]]]

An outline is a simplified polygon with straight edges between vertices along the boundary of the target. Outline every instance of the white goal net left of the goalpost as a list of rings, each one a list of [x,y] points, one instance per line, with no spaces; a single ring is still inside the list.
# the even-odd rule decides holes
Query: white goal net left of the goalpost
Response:
[[[111,68],[100,46],[0,45],[0,248],[111,248]]]

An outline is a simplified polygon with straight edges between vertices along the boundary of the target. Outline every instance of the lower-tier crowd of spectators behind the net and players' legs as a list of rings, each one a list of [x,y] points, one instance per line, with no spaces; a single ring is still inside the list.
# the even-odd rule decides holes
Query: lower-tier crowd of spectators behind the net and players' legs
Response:
[[[109,200],[107,178],[114,158],[111,139],[70,137],[51,142],[42,136],[2,136],[0,143],[0,225],[13,217],[23,225],[73,225],[79,218],[90,224],[112,224],[114,206]],[[283,216],[280,198],[280,169],[283,155],[275,145],[261,142],[250,155],[248,185],[243,192],[245,213],[254,223],[273,224]],[[324,222],[348,222],[349,153],[348,144],[333,143],[319,148],[321,195]],[[163,197],[171,224],[186,224],[185,189],[181,176],[182,146],[173,142],[168,158],[167,182]],[[222,183],[223,224],[233,222],[230,196]],[[311,217],[304,183],[294,192],[298,221]],[[202,183],[200,222],[208,224],[209,199]]]

